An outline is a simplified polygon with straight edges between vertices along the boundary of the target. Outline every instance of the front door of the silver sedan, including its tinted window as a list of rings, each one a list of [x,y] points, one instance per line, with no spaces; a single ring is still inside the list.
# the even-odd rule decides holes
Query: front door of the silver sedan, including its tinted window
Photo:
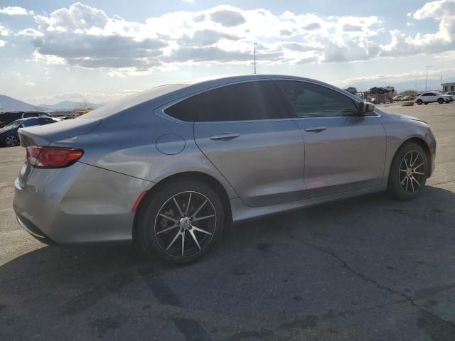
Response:
[[[360,116],[353,99],[322,85],[276,82],[304,136],[306,197],[380,185],[386,137],[377,114]]]

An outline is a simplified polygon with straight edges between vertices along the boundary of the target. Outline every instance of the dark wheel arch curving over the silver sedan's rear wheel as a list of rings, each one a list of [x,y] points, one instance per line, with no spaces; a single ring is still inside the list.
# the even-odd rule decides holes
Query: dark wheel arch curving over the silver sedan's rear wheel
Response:
[[[141,202],[137,207],[137,213],[134,215],[134,223],[133,223],[133,239],[136,234],[137,228],[137,219],[139,218],[141,208],[144,206],[144,202],[147,197],[151,197],[154,193],[157,193],[161,188],[164,188],[167,183],[174,180],[199,180],[203,183],[207,183],[215,192],[220,196],[220,200],[223,203],[223,210],[225,213],[225,222],[231,223],[232,222],[232,207],[230,206],[230,199],[228,192],[223,187],[223,185],[214,178],[212,175],[208,175],[207,173],[197,172],[197,171],[188,171],[182,173],[176,173],[172,175],[168,175],[166,178],[163,178],[156,183],[150,190],[147,191],[146,195],[141,198]]]

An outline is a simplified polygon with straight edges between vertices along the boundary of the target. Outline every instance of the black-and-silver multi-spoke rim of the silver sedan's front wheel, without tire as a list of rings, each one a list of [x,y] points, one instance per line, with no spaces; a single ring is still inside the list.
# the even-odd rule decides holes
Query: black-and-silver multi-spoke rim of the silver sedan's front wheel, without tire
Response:
[[[398,171],[398,179],[402,190],[407,194],[414,194],[422,188],[426,169],[425,158],[419,151],[407,152],[405,157],[402,158]]]

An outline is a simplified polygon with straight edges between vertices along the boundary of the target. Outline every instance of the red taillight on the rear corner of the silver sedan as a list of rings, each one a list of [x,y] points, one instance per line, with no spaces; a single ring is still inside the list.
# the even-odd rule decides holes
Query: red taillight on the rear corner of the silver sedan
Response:
[[[64,168],[79,160],[84,151],[64,147],[27,147],[27,161],[34,168]]]

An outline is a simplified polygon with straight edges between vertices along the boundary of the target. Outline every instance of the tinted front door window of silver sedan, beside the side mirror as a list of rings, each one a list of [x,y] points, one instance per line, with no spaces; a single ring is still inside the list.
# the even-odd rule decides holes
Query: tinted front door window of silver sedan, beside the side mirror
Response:
[[[277,81],[296,117],[338,117],[358,114],[352,99],[320,85],[289,80]]]

